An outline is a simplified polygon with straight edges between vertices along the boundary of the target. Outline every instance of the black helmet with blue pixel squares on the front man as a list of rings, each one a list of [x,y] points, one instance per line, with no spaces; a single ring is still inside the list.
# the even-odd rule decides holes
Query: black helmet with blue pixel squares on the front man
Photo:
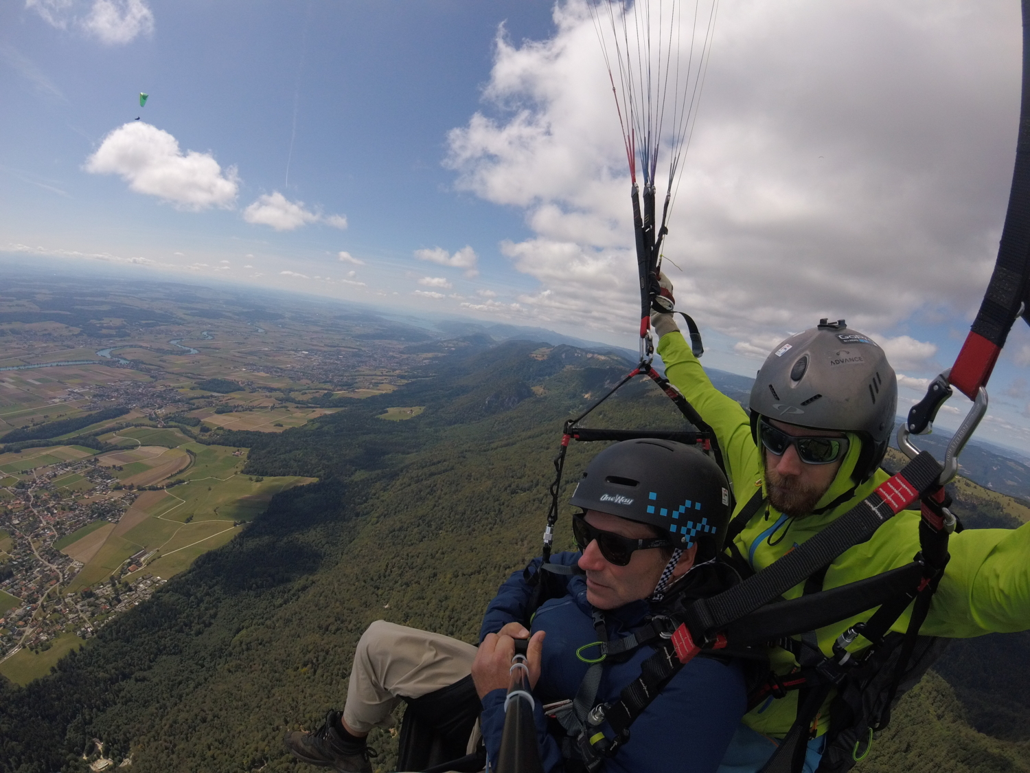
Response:
[[[729,523],[729,484],[719,466],[697,448],[640,438],[605,448],[587,465],[572,503],[656,526],[697,543],[696,563],[722,549]]]

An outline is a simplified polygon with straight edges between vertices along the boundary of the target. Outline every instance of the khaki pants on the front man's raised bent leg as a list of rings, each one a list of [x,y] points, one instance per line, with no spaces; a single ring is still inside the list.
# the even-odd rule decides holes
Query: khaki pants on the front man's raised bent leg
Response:
[[[421,698],[464,679],[475,658],[472,644],[376,620],[357,642],[343,719],[358,733],[388,728],[402,698]],[[478,735],[477,727],[471,746]]]

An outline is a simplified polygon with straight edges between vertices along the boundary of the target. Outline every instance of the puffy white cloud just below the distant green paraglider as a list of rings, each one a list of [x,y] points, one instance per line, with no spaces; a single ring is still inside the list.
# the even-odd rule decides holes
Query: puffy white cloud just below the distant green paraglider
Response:
[[[210,153],[183,155],[175,137],[139,121],[104,137],[84,169],[117,174],[136,193],[157,196],[180,209],[229,208],[239,190],[236,167],[222,172]]]

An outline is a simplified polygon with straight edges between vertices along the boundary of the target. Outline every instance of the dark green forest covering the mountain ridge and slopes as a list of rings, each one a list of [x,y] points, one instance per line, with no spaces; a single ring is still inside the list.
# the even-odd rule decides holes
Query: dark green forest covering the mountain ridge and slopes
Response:
[[[440,344],[415,344],[437,346]],[[392,394],[280,434],[211,433],[250,448],[250,475],[307,475],[224,547],[26,687],[0,681],[0,770],[85,771],[93,739],[140,773],[309,770],[283,733],[342,708],[354,644],[384,618],[474,642],[499,583],[538,553],[561,422],[629,367],[571,346],[449,342]],[[446,354],[444,354],[446,352]],[[404,422],[392,406],[425,406]],[[633,383],[596,425],[677,428]],[[565,481],[597,450],[570,448]],[[965,490],[963,490],[964,492]],[[957,492],[967,527],[1018,524]],[[564,500],[563,495],[562,500]],[[557,547],[571,543],[562,507]],[[954,644],[858,770],[1030,770],[1027,634]],[[378,770],[396,736],[375,731]]]

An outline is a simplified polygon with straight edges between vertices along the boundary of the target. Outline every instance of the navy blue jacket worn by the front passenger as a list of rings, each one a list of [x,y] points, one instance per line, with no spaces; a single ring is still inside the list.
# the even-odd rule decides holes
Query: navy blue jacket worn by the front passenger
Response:
[[[555,563],[572,564],[579,553],[559,553]],[[687,581],[686,578],[683,581]],[[521,620],[526,585],[522,572],[513,574],[501,586],[483,620],[483,636],[499,631],[506,623]],[[606,612],[609,639],[625,636],[644,624],[651,612],[644,601]],[[593,629],[590,604],[586,600],[586,581],[574,575],[568,594],[544,603],[533,619],[533,631],[546,631],[540,680],[534,690],[537,734],[545,773],[561,770],[558,742],[547,733],[541,706],[574,698],[588,664],[579,660],[576,650],[597,636]],[[645,645],[623,663],[606,664],[599,702],[613,702],[619,692],[641,673],[641,664],[654,652]],[[594,657],[596,650],[587,650]],[[486,750],[497,759],[504,730],[504,690],[494,690],[483,698],[481,717]],[[630,727],[629,741],[606,763],[606,773],[713,773],[747,709],[745,677],[736,664],[711,658],[695,658],[676,674],[664,690]]]

